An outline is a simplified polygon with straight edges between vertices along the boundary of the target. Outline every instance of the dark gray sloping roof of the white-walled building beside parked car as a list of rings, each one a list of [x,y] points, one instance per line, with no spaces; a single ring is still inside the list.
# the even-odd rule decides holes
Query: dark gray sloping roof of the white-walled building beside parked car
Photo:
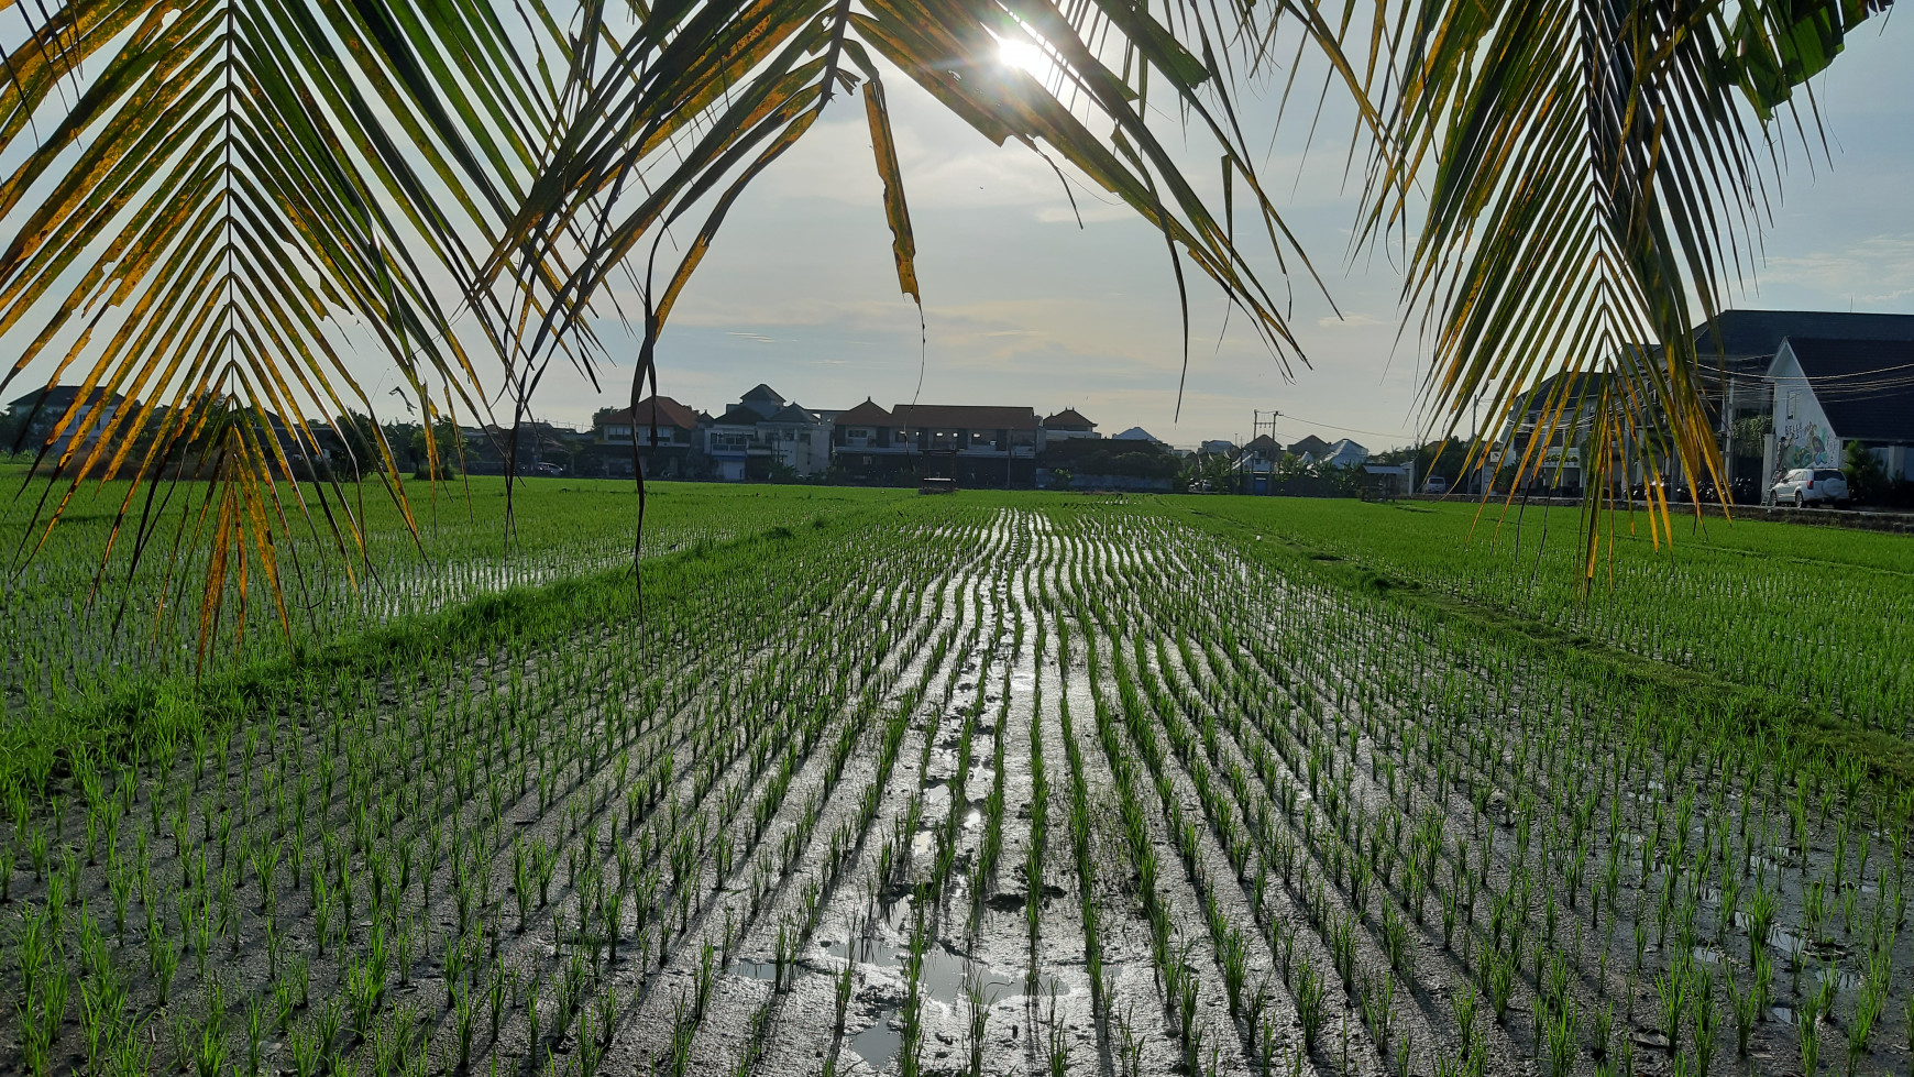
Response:
[[[1822,341],[1788,346],[1843,442],[1914,444],[1914,341]]]

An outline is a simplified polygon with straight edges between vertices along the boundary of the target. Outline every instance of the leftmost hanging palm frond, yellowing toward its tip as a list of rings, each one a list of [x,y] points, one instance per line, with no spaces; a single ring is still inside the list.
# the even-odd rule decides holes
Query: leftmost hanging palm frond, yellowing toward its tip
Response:
[[[377,415],[348,356],[383,354],[415,400],[436,385],[484,411],[480,369],[503,346],[494,323],[461,335],[454,319],[559,103],[484,2],[42,13],[0,86],[0,151],[19,161],[0,182],[17,222],[0,249],[0,335],[17,346],[0,390],[40,365],[84,392],[31,446],[50,484],[21,553],[90,478],[191,476],[211,515],[178,549],[209,549],[207,622],[258,583],[283,610],[295,526],[323,526],[339,553],[362,543],[337,486],[295,482],[325,474],[327,423],[306,415]],[[84,404],[115,396],[132,404],[82,430]],[[138,490],[119,509],[140,520],[136,560],[155,503]]]

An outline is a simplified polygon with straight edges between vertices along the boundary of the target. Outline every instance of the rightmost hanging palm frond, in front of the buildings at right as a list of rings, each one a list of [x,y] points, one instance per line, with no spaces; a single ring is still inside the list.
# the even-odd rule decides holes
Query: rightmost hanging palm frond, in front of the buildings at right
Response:
[[[1617,467],[1719,480],[1700,381],[1713,356],[1692,319],[1723,310],[1726,274],[1757,247],[1780,182],[1774,109],[1880,8],[1424,2],[1378,46],[1395,63],[1365,230],[1414,235],[1405,300],[1434,352],[1424,390],[1447,434],[1472,402],[1485,430],[1539,413],[1518,482],[1543,474],[1552,432],[1587,427],[1591,576]],[[1566,377],[1537,400],[1550,375]],[[1493,451],[1478,440],[1468,467]],[[1659,538],[1667,507],[1652,511]]]

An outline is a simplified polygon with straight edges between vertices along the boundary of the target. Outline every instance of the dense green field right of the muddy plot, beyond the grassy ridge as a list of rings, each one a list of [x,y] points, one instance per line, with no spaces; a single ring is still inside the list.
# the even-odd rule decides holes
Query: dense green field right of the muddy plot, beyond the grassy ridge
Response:
[[[1600,572],[1585,585],[1575,509],[1166,503],[1344,559],[1370,585],[1413,583],[1460,601],[1458,608],[1763,689],[1897,736],[1914,721],[1914,664],[1887,645],[1914,631],[1914,543],[1901,536],[1677,520],[1673,547],[1658,549],[1646,517],[1621,517],[1604,520]]]

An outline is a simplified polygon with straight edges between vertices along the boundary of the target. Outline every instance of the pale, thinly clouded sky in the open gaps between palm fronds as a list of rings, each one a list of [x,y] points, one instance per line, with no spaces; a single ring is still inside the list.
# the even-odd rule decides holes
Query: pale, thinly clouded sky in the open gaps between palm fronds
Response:
[[[1914,38],[1904,23],[1862,27],[1814,80],[1826,151],[1818,136],[1803,151],[1790,130],[1772,224],[1761,256],[1744,264],[1734,306],[1914,312]],[[1334,107],[1309,142],[1294,105],[1273,122],[1277,90],[1238,90],[1246,128],[1275,130],[1259,170],[1326,285],[1328,297],[1307,277],[1284,279],[1267,253],[1257,260],[1279,298],[1284,287],[1294,295],[1307,365],[1284,371],[1242,331],[1240,312],[1231,327],[1219,293],[1194,277],[1179,400],[1185,337],[1162,235],[1081,187],[1079,226],[1057,174],[1028,149],[991,145],[903,77],[886,78],[886,92],[923,331],[898,293],[863,109],[840,96],[733,209],[664,331],[662,394],[708,411],[756,383],[827,409],[865,398],[1070,406],[1106,436],[1141,425],[1177,446],[1246,440],[1261,409],[1280,411],[1280,442],[1349,436],[1374,450],[1413,440],[1424,354],[1399,333],[1401,275],[1388,253],[1349,256],[1357,191],[1344,187],[1347,142],[1324,134],[1347,130]],[[1191,168],[1213,178],[1213,157]],[[628,400],[635,344],[614,323],[601,331],[612,360],[603,392],[555,373],[540,417],[588,425],[597,407]]]

